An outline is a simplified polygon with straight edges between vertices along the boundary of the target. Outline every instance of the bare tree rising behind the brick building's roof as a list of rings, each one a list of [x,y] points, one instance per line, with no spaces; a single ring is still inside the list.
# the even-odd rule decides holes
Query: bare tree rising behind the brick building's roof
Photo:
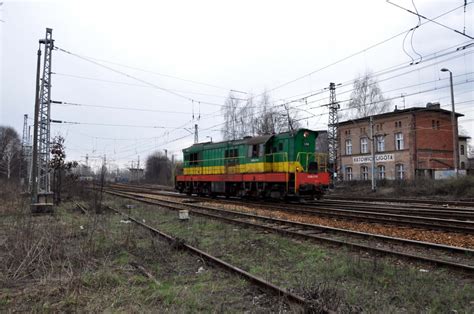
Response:
[[[350,118],[357,119],[387,112],[390,102],[385,100],[377,80],[370,71],[354,81],[349,108],[355,109]]]

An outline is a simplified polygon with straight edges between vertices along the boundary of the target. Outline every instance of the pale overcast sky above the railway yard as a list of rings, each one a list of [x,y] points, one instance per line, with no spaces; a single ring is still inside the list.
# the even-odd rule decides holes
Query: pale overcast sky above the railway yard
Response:
[[[411,0],[392,2],[415,11]],[[459,7],[436,22],[474,36],[472,1],[465,13],[464,0],[414,3],[429,18]],[[351,81],[367,70],[386,72],[376,78],[393,98],[391,110],[428,101],[450,110],[449,75],[439,71],[449,68],[456,111],[465,115],[461,130],[474,137],[474,46],[456,51],[474,41],[433,22],[407,34],[418,18],[382,0],[4,0],[0,20],[0,124],[20,135],[23,115],[33,114],[45,28],[53,29],[57,47],[74,54],[53,52],[51,93],[82,106],[53,104],[51,118],[109,126],[53,124],[52,135],[66,138],[69,159],[106,154],[123,166],[155,150],[180,156],[193,143],[195,123],[201,141],[219,140],[220,106],[230,90],[256,102],[267,90],[278,109],[317,94],[307,105],[291,105],[304,127],[326,129],[322,105],[329,93],[322,90],[342,83],[337,99],[345,108]],[[412,58],[421,62],[410,66]],[[122,109],[104,108],[110,106]]]

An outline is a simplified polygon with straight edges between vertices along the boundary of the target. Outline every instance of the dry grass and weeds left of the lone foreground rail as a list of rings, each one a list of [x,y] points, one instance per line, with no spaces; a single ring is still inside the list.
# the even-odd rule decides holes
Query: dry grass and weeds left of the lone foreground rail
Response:
[[[118,215],[83,215],[73,207],[72,203],[64,203],[56,208],[54,216],[24,216],[34,230],[44,231],[38,236],[54,236],[50,242],[56,243],[62,254],[41,259],[46,262],[51,257],[41,272],[25,268],[21,282],[11,277],[7,264],[0,265],[0,312],[191,313],[288,308],[269,301],[275,299],[270,295],[260,298],[265,303],[255,303],[254,298],[262,293],[253,285],[172,249],[141,227],[123,223]],[[28,224],[8,219],[2,222],[6,228],[2,230],[11,235],[26,234]],[[16,240],[23,241],[16,236],[4,239],[9,246],[14,246]],[[0,241],[2,257],[3,245]],[[25,256],[18,258],[11,260],[15,267]],[[70,266],[63,267],[66,265]],[[134,265],[146,269],[152,278]],[[203,270],[198,272],[200,268]]]

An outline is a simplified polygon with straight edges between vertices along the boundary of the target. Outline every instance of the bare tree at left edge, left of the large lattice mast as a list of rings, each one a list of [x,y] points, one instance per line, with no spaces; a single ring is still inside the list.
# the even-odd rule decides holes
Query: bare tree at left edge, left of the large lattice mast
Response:
[[[16,171],[21,163],[21,141],[11,127],[0,126],[0,177],[10,180],[19,175]]]

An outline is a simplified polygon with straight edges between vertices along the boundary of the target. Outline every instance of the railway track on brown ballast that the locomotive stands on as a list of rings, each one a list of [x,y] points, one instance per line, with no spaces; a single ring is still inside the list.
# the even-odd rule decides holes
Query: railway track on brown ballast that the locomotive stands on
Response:
[[[154,195],[166,195],[178,198],[189,198],[180,194],[169,194],[157,192],[147,188],[126,187],[120,190],[128,190],[137,193],[148,193]],[[196,200],[215,202],[211,198],[194,197]],[[218,199],[219,202],[236,205],[251,205],[259,208],[282,210],[309,216],[329,217],[336,219],[363,221],[388,225],[398,225],[411,228],[422,228],[426,230],[439,230],[474,234],[474,210],[445,208],[407,208],[393,205],[362,204],[360,202],[322,201],[309,204],[301,203],[277,203],[249,200]]]

